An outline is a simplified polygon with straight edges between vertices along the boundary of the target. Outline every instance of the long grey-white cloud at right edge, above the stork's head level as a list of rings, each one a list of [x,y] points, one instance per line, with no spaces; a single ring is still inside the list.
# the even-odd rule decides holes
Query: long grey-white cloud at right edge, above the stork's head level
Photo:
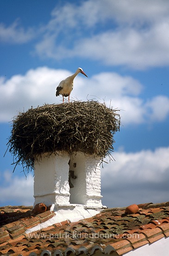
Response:
[[[169,64],[169,22],[149,29],[125,27],[83,38],[72,51],[83,58],[103,61],[106,65],[125,65],[134,69]],[[82,49],[82,50],[81,50]]]

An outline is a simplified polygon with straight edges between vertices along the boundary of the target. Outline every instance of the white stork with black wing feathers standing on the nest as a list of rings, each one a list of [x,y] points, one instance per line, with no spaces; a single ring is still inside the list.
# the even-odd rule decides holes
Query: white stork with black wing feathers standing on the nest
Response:
[[[71,91],[73,90],[73,81],[77,74],[84,74],[87,76],[81,67],[78,67],[75,74],[72,74],[71,76],[65,78],[63,81],[60,82],[58,87],[56,88],[56,96],[59,96],[60,94],[63,95],[63,103],[64,103],[64,96],[68,97],[70,96]],[[88,76],[87,76],[88,77]],[[69,101],[69,98],[68,98]]]

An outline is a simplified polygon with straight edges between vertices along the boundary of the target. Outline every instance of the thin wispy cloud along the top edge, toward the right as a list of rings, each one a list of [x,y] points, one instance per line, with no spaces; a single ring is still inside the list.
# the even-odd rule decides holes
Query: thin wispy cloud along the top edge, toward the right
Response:
[[[168,17],[169,3],[166,0],[142,0],[139,4],[134,0],[88,0],[81,4],[66,3],[56,6],[51,13],[50,29],[62,30],[63,27],[85,30],[108,21],[116,21],[120,25],[134,25],[140,27],[144,23],[154,23]],[[66,17],[66,19],[65,19]],[[61,28],[56,27],[60,24]],[[62,27],[63,26],[63,27]]]

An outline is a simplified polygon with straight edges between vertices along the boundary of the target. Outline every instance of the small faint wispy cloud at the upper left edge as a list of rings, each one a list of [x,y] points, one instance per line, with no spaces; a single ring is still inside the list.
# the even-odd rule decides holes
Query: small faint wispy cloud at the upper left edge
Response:
[[[32,28],[28,28],[27,31],[19,25],[19,20],[15,20],[13,24],[6,27],[5,24],[0,23],[0,41],[8,42],[10,44],[25,43],[35,37],[35,33]]]

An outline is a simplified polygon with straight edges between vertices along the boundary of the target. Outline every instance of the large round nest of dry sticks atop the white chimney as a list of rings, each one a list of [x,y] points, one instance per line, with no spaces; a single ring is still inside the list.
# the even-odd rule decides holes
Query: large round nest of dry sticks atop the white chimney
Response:
[[[119,130],[118,110],[97,101],[45,104],[19,113],[13,119],[8,141],[15,167],[27,172],[44,153],[83,152],[112,159],[113,135]],[[15,168],[14,168],[15,169]]]

